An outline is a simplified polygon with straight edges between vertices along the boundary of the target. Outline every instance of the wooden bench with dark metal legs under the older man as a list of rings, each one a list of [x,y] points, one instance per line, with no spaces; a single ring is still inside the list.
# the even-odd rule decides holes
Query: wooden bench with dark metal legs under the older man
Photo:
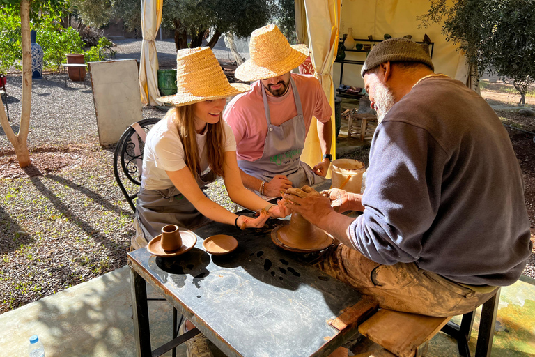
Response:
[[[497,306],[499,303],[498,289],[496,294],[481,308],[479,332],[476,344],[476,357],[489,357],[493,344],[493,332],[496,322]],[[458,343],[461,357],[470,357],[468,340],[472,333],[474,312],[463,315],[460,326],[450,321],[451,317],[431,317],[419,314],[408,314],[391,310],[379,310],[372,317],[359,325],[359,333],[367,337],[380,347],[360,346],[366,354],[357,354],[357,357],[371,356],[373,350],[375,357],[421,357],[425,356],[428,342],[438,331],[443,331],[455,338]]]

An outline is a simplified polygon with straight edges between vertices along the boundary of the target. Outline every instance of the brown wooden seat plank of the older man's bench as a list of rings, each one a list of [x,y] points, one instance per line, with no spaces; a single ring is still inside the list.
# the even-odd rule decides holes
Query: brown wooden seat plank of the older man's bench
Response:
[[[396,356],[422,356],[417,351],[426,349],[426,342],[450,319],[382,309],[359,326],[359,333]]]

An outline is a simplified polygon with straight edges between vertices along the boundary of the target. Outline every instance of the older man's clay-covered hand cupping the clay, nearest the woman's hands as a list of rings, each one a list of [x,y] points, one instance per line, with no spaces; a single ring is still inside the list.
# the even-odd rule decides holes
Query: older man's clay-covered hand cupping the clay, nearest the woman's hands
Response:
[[[302,190],[289,189],[283,198],[286,199],[286,206],[293,212],[300,213],[304,219],[319,226],[320,220],[326,218],[333,211],[331,201],[316,191],[307,193],[306,187],[303,187]]]

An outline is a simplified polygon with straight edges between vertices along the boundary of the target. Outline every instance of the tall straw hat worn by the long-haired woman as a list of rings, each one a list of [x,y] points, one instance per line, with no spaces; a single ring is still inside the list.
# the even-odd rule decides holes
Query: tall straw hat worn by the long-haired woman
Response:
[[[243,83],[228,83],[210,47],[196,47],[176,52],[176,94],[157,98],[176,107],[236,96],[249,91]]]

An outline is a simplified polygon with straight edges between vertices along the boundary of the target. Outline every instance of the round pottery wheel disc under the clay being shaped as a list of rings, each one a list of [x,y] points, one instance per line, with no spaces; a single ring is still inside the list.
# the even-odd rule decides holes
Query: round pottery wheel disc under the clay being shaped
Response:
[[[318,252],[332,245],[334,241],[332,236],[329,236],[325,231],[317,229],[317,233],[310,236],[307,241],[295,242],[287,235],[288,229],[290,229],[289,223],[287,220],[283,221],[281,225],[278,225],[271,231],[271,240],[273,243],[284,250],[300,253]]]

